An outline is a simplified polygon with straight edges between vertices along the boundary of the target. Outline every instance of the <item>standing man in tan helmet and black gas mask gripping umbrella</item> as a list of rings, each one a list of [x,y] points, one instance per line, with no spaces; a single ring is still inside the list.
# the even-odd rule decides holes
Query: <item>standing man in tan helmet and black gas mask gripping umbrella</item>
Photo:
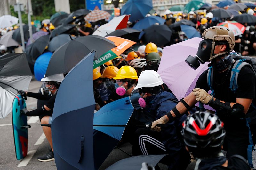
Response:
[[[189,56],[185,61],[193,69],[209,61],[211,62],[209,69],[199,76],[196,88],[188,96],[181,99],[170,112],[152,123],[152,129],[160,131],[161,128],[156,127],[156,124],[174,121],[198,101],[209,104],[225,124],[224,150],[228,151],[226,157],[238,154],[247,159],[250,133],[244,118],[247,112],[255,110],[251,106],[255,98],[255,74],[247,65],[241,70],[233,69],[234,64],[241,60],[235,61],[229,54],[235,45],[235,37],[231,30],[222,26],[214,26],[206,29],[202,38],[196,56]],[[231,72],[234,74],[236,70],[239,70],[236,78],[238,87],[234,92],[232,85],[230,87],[230,81],[232,81]],[[209,90],[212,94],[207,93]],[[208,128],[205,127],[205,131]],[[251,154],[250,149],[248,149],[248,160]]]

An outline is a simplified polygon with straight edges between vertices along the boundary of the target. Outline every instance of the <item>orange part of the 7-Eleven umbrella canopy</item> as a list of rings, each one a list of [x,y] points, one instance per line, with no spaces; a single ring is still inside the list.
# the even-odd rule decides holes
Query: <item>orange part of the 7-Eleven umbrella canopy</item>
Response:
[[[129,39],[124,39],[121,37],[108,36],[105,38],[109,39],[110,41],[113,41],[115,43],[115,45],[117,47],[112,48],[111,51],[113,51],[117,56],[124,53],[124,51],[127,50],[133,44],[136,44],[136,42],[134,42],[134,41],[131,41]]]

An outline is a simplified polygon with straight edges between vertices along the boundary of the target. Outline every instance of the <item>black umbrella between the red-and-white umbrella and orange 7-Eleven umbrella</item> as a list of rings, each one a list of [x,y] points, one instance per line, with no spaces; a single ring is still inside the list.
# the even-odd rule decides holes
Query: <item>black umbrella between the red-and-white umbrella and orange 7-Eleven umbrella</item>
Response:
[[[133,29],[133,28],[124,28],[124,29],[119,29],[111,32],[110,34],[106,35],[105,37],[108,36],[116,36],[116,37],[122,37],[125,39],[129,39],[131,41],[137,41],[140,35],[139,30]]]

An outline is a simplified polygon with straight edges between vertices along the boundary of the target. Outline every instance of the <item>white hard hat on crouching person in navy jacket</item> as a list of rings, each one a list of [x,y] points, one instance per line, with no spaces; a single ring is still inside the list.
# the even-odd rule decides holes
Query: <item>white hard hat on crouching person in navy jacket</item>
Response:
[[[142,71],[138,79],[138,85],[134,89],[143,87],[156,87],[164,84],[160,75],[154,70]]]

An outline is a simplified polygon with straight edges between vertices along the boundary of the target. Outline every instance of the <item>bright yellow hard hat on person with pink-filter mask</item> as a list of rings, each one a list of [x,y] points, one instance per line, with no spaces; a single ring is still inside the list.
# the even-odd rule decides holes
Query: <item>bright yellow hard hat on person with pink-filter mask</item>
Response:
[[[122,66],[113,79],[138,79],[138,75],[131,66]]]

